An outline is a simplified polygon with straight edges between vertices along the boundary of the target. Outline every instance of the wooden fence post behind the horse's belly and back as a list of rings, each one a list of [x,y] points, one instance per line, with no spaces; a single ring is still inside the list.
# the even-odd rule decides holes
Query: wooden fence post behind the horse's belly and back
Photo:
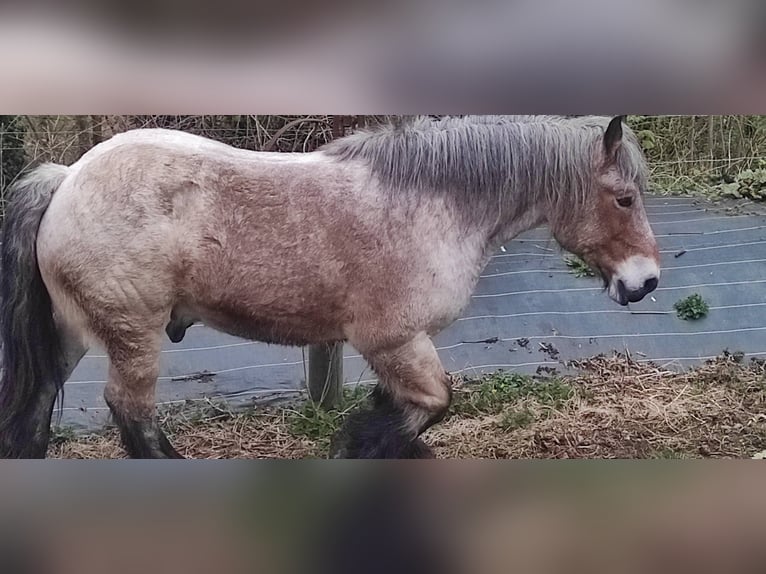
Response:
[[[332,117],[332,137],[344,135],[343,116]],[[343,343],[311,345],[306,386],[311,400],[322,408],[338,405],[343,393]]]

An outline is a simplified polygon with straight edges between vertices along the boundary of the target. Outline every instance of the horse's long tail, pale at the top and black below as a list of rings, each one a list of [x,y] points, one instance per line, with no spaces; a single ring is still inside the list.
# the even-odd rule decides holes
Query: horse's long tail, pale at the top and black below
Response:
[[[61,339],[37,264],[37,232],[68,168],[45,164],[9,189],[0,246],[0,457],[45,456],[64,385]],[[42,450],[42,452],[41,452]]]

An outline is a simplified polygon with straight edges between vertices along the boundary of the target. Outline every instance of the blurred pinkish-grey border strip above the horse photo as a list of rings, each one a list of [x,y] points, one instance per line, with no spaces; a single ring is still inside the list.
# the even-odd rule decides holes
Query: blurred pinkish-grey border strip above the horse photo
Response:
[[[4,5],[0,109],[766,111],[766,10],[751,0],[319,4]]]

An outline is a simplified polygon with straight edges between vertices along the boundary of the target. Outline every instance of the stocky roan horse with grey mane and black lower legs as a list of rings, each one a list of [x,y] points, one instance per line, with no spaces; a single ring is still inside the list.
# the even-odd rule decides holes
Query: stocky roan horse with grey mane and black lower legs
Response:
[[[507,241],[547,225],[620,305],[656,289],[648,170],[624,116],[416,117],[308,153],[184,132],[113,136],[9,190],[0,253],[0,456],[44,458],[93,346],[132,458],[182,458],[156,413],[163,332],[348,342],[377,375],[332,458],[428,458],[452,380],[432,337]]]

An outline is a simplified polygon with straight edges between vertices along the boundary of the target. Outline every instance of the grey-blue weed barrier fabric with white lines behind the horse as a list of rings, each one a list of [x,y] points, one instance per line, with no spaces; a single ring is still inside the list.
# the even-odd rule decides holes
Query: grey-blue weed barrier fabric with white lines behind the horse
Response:
[[[682,197],[649,197],[646,207],[662,252],[656,292],[620,307],[598,279],[575,277],[548,230],[533,230],[492,258],[463,316],[436,337],[445,368],[467,376],[563,372],[567,361],[614,351],[675,369],[727,349],[766,357],[764,210]],[[709,305],[708,315],[679,319],[674,304],[695,293]],[[294,398],[301,396],[305,369],[302,349],[194,326],[181,343],[165,342],[157,400],[224,400],[236,408]],[[375,380],[350,345],[344,374],[347,384]],[[63,426],[97,430],[108,422],[106,375],[106,357],[92,350],[65,385]]]

